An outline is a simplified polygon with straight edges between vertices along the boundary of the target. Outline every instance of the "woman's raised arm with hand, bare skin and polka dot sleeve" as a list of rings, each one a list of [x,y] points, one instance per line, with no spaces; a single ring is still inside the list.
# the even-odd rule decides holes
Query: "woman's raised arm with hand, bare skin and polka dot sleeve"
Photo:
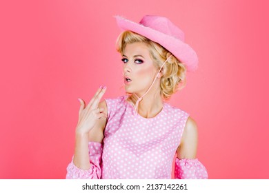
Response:
[[[88,105],[79,99],[74,156],[67,167],[66,179],[100,179],[103,130],[106,127],[106,102],[100,103],[106,87],[100,87]],[[92,140],[92,141],[91,141]]]

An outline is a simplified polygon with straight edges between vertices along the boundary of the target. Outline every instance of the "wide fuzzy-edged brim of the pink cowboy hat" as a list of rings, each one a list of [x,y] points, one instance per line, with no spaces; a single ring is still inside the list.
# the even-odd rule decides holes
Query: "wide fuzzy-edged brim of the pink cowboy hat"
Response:
[[[121,16],[115,16],[117,24],[122,30],[130,30],[137,34],[141,34],[143,37],[155,41],[162,45],[166,50],[171,52],[179,61],[181,61],[188,71],[195,71],[198,67],[198,57],[190,45],[184,43],[180,39],[172,37],[168,34],[163,34],[152,28],[148,28],[139,23],[135,23]]]

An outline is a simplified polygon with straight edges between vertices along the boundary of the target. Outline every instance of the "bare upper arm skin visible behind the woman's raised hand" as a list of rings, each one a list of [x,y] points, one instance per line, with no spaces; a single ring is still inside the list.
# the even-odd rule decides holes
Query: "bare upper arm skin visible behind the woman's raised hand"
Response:
[[[98,108],[103,108],[103,112],[105,114],[108,114],[108,107],[106,105],[106,101],[103,100],[99,103]],[[97,123],[94,125],[94,128],[92,128],[92,130],[90,130],[89,132],[89,137],[88,140],[89,141],[95,141],[95,142],[99,142],[101,143],[103,141],[103,131],[106,128],[106,118],[101,118],[97,121]]]

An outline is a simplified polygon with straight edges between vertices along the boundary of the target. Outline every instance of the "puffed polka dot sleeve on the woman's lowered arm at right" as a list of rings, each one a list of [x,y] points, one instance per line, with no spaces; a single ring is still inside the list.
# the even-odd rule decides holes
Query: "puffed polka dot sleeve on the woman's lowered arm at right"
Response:
[[[198,159],[176,158],[175,179],[208,179],[208,172]]]

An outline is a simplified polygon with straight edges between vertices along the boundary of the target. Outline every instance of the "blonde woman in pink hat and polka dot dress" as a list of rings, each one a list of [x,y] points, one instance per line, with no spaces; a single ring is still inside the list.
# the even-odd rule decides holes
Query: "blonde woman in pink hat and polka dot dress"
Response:
[[[197,68],[197,55],[183,32],[165,17],[140,23],[116,17],[126,96],[100,102],[100,87],[88,105],[81,99],[75,152],[67,179],[207,179],[196,159],[197,125],[166,100]]]

